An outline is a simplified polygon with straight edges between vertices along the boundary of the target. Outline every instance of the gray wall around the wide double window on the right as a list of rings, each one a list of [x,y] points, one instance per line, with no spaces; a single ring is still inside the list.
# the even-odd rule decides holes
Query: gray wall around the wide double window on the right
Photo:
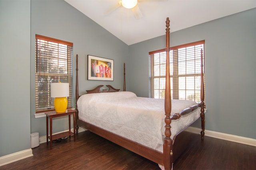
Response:
[[[256,139],[256,9],[170,33],[170,46],[200,40],[205,40],[206,129]],[[130,91],[148,97],[148,52],[165,47],[165,35],[129,46]]]

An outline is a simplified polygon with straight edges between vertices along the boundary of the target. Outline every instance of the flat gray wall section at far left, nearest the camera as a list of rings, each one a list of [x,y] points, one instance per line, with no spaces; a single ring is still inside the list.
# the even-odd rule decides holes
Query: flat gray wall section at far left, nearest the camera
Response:
[[[0,0],[0,156],[30,149],[30,1]]]

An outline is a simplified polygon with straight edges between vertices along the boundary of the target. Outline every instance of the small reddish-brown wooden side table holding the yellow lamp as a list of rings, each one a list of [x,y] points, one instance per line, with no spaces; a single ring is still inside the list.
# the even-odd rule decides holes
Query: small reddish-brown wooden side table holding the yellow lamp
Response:
[[[50,139],[50,149],[52,149],[52,141],[55,139],[60,139],[62,137],[69,136],[71,138],[71,135],[74,135],[74,141],[76,141],[76,110],[73,109],[67,109],[66,112],[63,113],[56,113],[56,111],[49,111],[46,112],[46,143],[48,145],[48,138]],[[69,123],[69,131],[58,133],[56,135],[52,135],[52,118],[54,117],[60,117],[60,116],[66,116],[68,115],[68,123]],[[74,131],[72,132],[70,130],[70,115],[73,115],[73,125],[74,125]],[[50,136],[48,136],[48,119],[50,118]]]

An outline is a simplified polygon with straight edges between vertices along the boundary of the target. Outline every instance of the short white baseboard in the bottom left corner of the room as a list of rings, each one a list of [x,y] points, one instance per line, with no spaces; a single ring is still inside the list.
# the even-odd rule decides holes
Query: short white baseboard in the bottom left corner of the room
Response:
[[[20,152],[15,152],[12,154],[8,154],[0,157],[0,166],[10,164],[12,162],[22,160],[24,158],[28,158],[33,156],[32,149],[22,150]]]

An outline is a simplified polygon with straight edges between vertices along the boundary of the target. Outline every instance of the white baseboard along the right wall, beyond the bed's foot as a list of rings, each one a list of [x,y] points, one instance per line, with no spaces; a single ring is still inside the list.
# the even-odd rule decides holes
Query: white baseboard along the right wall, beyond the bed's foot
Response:
[[[197,127],[188,127],[188,131],[198,133],[198,131],[201,131],[201,130],[200,128],[197,128]],[[226,133],[220,133],[220,132],[208,131],[208,130],[204,131],[204,135],[208,137],[214,137],[217,139],[223,139],[226,141],[232,141],[232,142],[242,143],[245,145],[251,145],[256,147],[256,139],[252,139],[252,138],[240,137],[236,135],[230,135]]]

